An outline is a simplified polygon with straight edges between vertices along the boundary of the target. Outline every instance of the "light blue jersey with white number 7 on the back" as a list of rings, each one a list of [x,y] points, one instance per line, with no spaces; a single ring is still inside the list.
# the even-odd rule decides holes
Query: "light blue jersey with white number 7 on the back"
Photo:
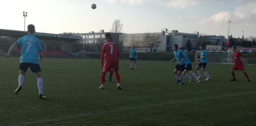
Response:
[[[40,40],[34,35],[26,35],[17,41],[18,45],[22,47],[20,63],[34,63],[38,64],[38,51],[42,51]]]

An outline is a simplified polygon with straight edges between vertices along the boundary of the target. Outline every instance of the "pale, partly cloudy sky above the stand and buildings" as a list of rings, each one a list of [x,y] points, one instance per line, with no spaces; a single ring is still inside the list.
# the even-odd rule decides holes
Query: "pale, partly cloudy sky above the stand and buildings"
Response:
[[[0,5],[0,29],[23,31],[28,12],[26,27],[34,24],[36,32],[52,34],[109,32],[118,19],[127,34],[167,28],[256,37],[256,0],[1,0]]]

